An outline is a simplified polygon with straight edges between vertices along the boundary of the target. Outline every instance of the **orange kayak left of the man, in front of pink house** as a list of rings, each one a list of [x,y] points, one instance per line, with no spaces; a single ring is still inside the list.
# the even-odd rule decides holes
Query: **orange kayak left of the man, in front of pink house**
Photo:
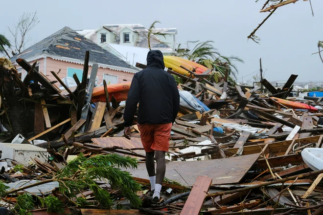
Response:
[[[126,101],[131,82],[115,85],[107,85],[109,99],[114,96],[117,102]],[[97,86],[93,88],[92,102],[105,102],[104,86]]]

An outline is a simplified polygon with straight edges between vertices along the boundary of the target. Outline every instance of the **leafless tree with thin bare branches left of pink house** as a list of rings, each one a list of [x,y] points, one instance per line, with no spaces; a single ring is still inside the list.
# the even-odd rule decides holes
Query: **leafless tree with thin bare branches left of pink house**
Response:
[[[13,47],[16,48],[18,53],[22,52],[24,45],[31,40],[30,37],[26,38],[26,36],[38,23],[39,20],[36,11],[34,13],[23,13],[23,16],[19,18],[17,23],[14,23],[12,28],[7,26],[7,29],[12,36],[12,40],[15,43]]]

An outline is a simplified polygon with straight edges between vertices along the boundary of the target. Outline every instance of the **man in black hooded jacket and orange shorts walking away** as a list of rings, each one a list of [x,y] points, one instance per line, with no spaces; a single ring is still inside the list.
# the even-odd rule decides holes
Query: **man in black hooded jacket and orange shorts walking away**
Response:
[[[134,75],[123,115],[124,135],[130,139],[130,126],[139,102],[138,128],[146,151],[146,168],[151,190],[154,191],[154,203],[160,199],[161,184],[166,171],[165,152],[169,149],[170,130],[180,108],[176,81],[164,68],[161,51],[149,51],[147,67]]]

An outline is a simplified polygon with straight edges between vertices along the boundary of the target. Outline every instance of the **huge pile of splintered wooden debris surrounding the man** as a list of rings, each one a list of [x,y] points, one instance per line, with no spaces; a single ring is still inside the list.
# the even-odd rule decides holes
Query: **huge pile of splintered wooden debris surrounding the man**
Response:
[[[88,75],[88,59],[87,53],[83,77]],[[132,126],[132,139],[127,140],[123,137],[124,106],[109,96],[107,90],[105,102],[91,102],[97,69],[95,64],[88,83],[86,78],[78,80],[74,76],[78,86],[69,89],[62,85],[66,89],[61,91],[41,72],[34,70],[34,65],[22,59],[17,63],[29,71],[23,81],[12,69],[0,70],[0,81],[12,80],[11,85],[16,86],[14,92],[1,94],[4,110],[0,128],[14,134],[4,136],[1,142],[10,142],[18,132],[25,137],[23,143],[37,140],[33,144],[47,149],[49,159],[42,160],[36,156],[31,157],[32,164],[17,160],[8,162],[12,168],[10,171],[2,168],[2,179],[12,183],[33,179],[40,185],[58,182],[59,185],[50,185],[50,189],[42,191],[41,195],[54,196],[62,201],[62,208],[67,210],[65,214],[75,211],[83,215],[322,214],[323,186],[320,181],[323,168],[305,163],[302,155],[306,150],[312,151],[313,155],[322,153],[323,104],[321,98],[288,97],[297,75],[291,75],[281,89],[265,79],[261,80],[268,90],[265,92],[260,86],[239,86],[227,82],[226,78],[216,83],[210,71],[196,74],[186,69],[191,74],[186,77],[168,68],[169,73],[177,76],[178,88],[188,91],[205,111],[181,106],[165,157],[163,201],[153,207],[145,195],[149,180],[137,118]],[[145,67],[141,64],[137,66]],[[61,83],[55,74],[53,72]],[[14,102],[9,101],[9,93],[16,96]],[[18,104],[23,110],[19,112],[24,117],[20,117],[21,120],[26,122],[24,125],[27,125],[23,129],[16,130],[11,123],[15,119],[12,104]],[[18,120],[17,125],[21,122]],[[44,141],[40,143],[40,140]],[[116,178],[127,178],[129,172],[131,180],[143,186],[136,190],[137,183],[134,182],[133,192],[128,192],[140,196],[141,207],[135,208],[133,196],[127,196],[120,189],[120,184],[114,186],[113,178],[107,180],[108,175],[96,175],[91,182],[99,187],[97,189],[113,196],[113,207],[97,209],[104,208],[104,205],[91,186],[79,187],[75,184],[74,196],[64,193],[64,185],[69,188],[73,180],[81,183],[85,172],[98,167],[102,164],[98,159],[105,157],[111,162],[122,159],[127,159],[125,162],[129,163],[136,161],[132,165],[117,166],[119,174],[124,177]],[[87,165],[88,160],[95,160],[96,163],[81,166]],[[73,162],[79,163],[73,166]],[[111,163],[105,164],[114,168]],[[76,170],[71,169],[67,173],[66,169],[70,166],[76,167]],[[62,174],[66,176],[62,177]],[[19,191],[22,190],[25,188]],[[20,196],[17,192],[7,191],[2,205],[7,208],[17,206],[16,199]],[[31,193],[35,194],[35,191]],[[34,207],[37,206],[42,210],[46,208],[35,202]],[[73,210],[68,209],[69,206]],[[37,213],[34,208],[28,211]]]

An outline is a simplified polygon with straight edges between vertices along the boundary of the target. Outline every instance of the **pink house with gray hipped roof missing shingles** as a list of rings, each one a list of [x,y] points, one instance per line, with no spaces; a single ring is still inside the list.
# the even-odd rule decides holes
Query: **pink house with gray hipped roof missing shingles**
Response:
[[[29,64],[37,61],[35,68],[44,73],[51,81],[56,81],[56,79],[50,71],[59,72],[58,76],[61,79],[72,77],[75,73],[81,81],[86,51],[90,51],[88,75],[91,74],[92,64],[98,64],[99,84],[103,80],[106,80],[107,84],[131,82],[134,74],[138,72],[136,67],[124,62],[69,27],[62,28],[10,60],[16,65],[22,78],[26,76],[27,71],[16,63],[18,58],[23,58]],[[57,83],[57,85],[59,84]]]

